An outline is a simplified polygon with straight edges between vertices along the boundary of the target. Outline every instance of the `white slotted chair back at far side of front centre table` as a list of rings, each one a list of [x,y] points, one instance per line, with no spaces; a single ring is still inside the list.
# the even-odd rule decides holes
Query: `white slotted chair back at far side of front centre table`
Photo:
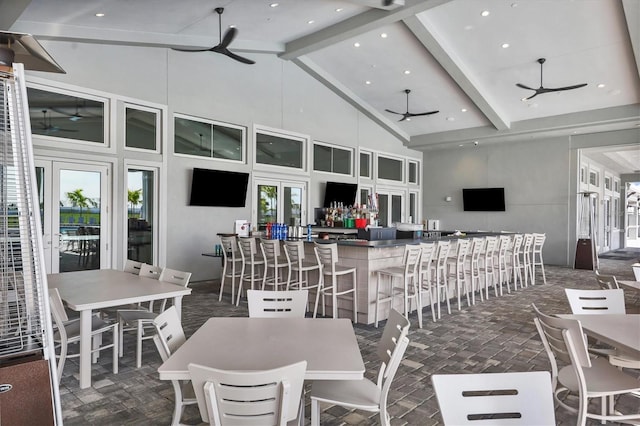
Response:
[[[247,290],[249,318],[304,318],[308,290]]]

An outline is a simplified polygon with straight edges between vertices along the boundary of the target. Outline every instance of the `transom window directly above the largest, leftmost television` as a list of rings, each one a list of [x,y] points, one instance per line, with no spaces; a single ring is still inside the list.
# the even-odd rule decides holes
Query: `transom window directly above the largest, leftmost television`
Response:
[[[174,116],[176,154],[244,162],[246,128],[229,123]]]

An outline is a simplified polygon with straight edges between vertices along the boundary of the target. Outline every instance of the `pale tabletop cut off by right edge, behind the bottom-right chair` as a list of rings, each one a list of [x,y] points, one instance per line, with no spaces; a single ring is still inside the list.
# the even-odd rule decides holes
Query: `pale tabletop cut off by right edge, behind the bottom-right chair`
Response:
[[[640,315],[588,314],[558,317],[578,320],[588,335],[610,344],[621,352],[640,357]]]

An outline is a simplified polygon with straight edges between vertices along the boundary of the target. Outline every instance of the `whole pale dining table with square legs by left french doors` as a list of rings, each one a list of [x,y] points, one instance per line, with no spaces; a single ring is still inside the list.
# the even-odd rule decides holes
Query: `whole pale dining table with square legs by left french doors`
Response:
[[[80,313],[80,388],[91,386],[91,315],[94,310],[131,303],[173,299],[182,311],[182,297],[191,289],[153,278],[112,269],[62,272],[47,275],[49,288],[57,288],[71,310]]]

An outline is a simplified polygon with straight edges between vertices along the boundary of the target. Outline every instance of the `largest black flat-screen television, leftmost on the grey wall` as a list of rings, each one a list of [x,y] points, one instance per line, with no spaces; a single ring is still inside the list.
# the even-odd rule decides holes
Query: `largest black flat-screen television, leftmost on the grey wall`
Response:
[[[193,169],[190,206],[244,207],[249,173]]]

